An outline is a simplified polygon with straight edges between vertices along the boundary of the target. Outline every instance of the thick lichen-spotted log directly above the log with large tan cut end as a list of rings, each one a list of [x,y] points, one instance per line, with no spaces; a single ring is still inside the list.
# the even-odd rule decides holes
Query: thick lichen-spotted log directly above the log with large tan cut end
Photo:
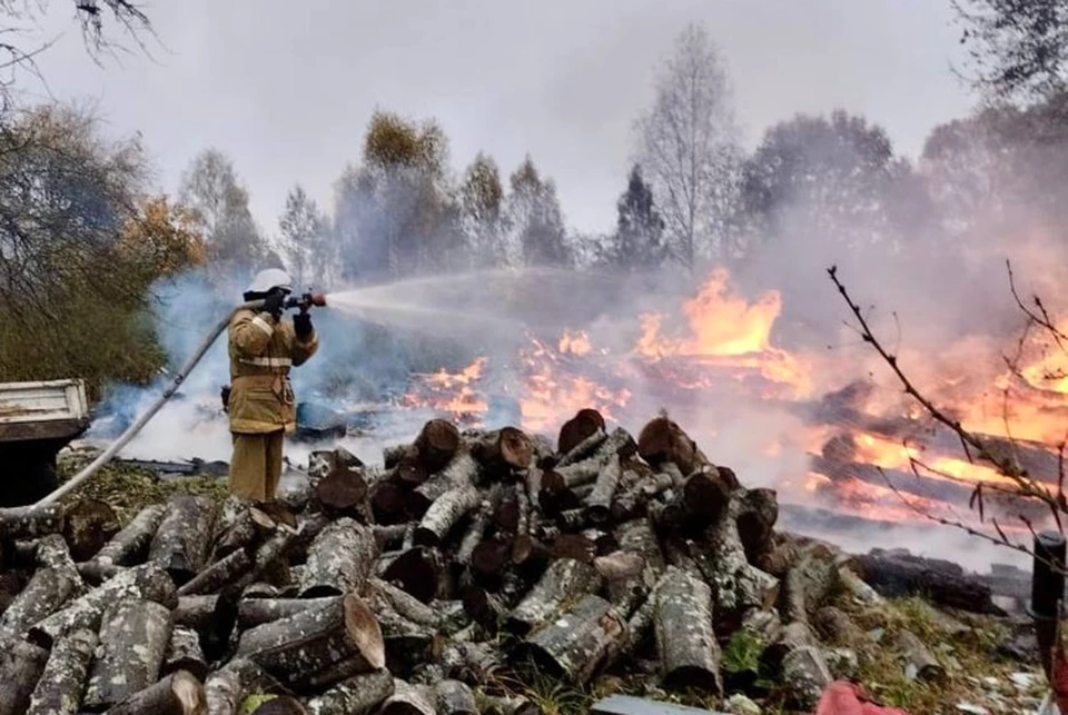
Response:
[[[334,522],[312,544],[300,575],[300,597],[339,596],[358,590],[378,557],[369,526],[345,517]]]

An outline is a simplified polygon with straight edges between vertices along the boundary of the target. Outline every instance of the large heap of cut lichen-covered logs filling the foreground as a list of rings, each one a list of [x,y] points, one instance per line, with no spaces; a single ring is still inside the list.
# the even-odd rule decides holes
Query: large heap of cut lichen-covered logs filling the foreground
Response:
[[[720,694],[740,632],[811,707],[829,594],[877,596],[777,517],[666,415],[634,439],[594,410],[555,447],[431,420],[382,465],[317,451],[277,502],[176,496],[121,530],[99,503],[0,510],[0,715],[518,715],[503,684],[535,673]]]

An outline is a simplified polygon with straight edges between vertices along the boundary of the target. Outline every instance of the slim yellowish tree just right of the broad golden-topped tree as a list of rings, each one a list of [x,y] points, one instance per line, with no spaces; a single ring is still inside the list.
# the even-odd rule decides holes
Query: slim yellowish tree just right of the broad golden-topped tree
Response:
[[[459,190],[464,232],[475,266],[502,266],[507,262],[507,226],[504,216],[504,187],[501,171],[492,157],[479,152],[464,175]]]

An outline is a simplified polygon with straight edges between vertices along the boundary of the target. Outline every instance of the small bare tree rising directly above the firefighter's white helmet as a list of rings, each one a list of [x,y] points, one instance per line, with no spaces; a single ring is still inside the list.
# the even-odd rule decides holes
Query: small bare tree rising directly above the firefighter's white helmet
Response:
[[[278,228],[296,285],[305,286],[313,279],[317,285],[328,284],[335,262],[328,219],[299,185],[286,197]]]

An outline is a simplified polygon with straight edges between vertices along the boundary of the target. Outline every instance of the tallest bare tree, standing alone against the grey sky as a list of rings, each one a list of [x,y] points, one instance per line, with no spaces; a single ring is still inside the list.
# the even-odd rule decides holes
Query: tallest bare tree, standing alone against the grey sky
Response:
[[[722,251],[741,156],[726,69],[703,27],[679,36],[637,131],[668,246],[692,269],[699,252]]]

